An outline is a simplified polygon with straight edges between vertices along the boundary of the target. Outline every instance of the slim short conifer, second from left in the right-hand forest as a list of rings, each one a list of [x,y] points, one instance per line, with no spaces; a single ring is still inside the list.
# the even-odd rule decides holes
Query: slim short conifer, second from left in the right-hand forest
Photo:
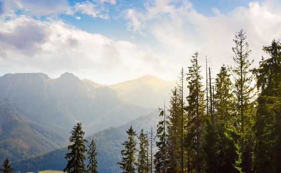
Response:
[[[148,146],[148,140],[147,140],[147,134],[143,132],[143,129],[141,130],[139,136],[139,151],[138,151],[138,158],[137,158],[137,170],[138,173],[146,173],[147,171],[147,146]]]

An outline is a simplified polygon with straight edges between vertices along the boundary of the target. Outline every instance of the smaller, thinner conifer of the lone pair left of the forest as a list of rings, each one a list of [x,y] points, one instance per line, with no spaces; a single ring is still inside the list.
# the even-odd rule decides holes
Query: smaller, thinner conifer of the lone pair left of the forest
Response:
[[[87,165],[87,173],[98,173],[97,171],[98,162],[96,159],[97,154],[98,153],[96,152],[96,143],[94,139],[92,139],[87,152],[88,161],[89,161],[89,164]]]

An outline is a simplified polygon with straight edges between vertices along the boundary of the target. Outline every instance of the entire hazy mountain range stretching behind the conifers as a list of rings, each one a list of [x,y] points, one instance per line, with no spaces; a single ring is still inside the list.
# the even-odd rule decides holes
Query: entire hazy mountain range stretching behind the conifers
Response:
[[[149,75],[105,86],[71,73],[57,79],[42,73],[6,74],[0,77],[0,160],[9,158],[20,171],[49,168],[34,163],[65,154],[69,132],[79,121],[100,146],[102,172],[116,172],[126,128],[156,126],[155,110],[174,84]]]

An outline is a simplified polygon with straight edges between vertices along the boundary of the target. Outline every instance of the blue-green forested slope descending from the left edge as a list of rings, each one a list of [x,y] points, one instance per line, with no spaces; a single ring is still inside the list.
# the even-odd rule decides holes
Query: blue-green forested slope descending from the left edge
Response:
[[[0,160],[15,161],[60,148],[67,138],[56,131],[61,129],[0,97]]]

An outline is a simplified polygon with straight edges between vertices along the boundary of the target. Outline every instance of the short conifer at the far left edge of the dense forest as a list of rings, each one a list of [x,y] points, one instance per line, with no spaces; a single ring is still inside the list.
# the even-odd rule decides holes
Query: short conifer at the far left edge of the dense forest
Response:
[[[122,160],[118,163],[122,173],[135,173],[136,159],[136,132],[133,130],[132,126],[126,131],[128,134],[128,141],[125,141],[122,145],[124,149],[121,151]]]

